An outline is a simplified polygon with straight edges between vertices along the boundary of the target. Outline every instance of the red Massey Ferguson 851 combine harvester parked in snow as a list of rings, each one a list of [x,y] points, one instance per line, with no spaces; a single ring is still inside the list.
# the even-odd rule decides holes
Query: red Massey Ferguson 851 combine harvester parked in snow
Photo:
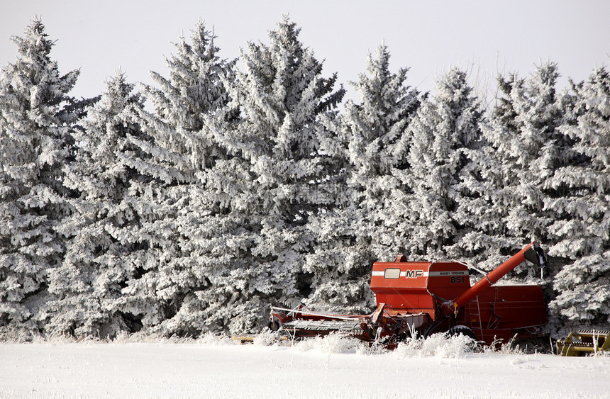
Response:
[[[377,310],[370,315],[331,315],[302,308],[273,307],[272,330],[289,337],[315,337],[346,332],[389,345],[436,332],[464,334],[485,344],[540,337],[547,320],[542,288],[534,285],[494,286],[525,260],[540,267],[546,257],[532,242],[497,269],[470,286],[469,268],[460,262],[394,262],[373,264],[370,288]]]

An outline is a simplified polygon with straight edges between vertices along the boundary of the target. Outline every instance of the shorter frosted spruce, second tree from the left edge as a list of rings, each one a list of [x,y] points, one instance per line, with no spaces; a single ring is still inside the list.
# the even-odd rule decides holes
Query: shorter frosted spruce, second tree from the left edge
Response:
[[[65,185],[77,193],[60,231],[67,237],[62,265],[49,272],[54,300],[45,307],[50,335],[106,337],[131,332],[134,315],[117,306],[121,291],[143,269],[145,241],[133,237],[147,219],[139,206],[138,184],[145,178],[125,162],[140,150],[128,140],[141,136],[126,118],[131,104],[143,106],[124,74],[106,82],[101,101],[88,113],[74,162],[65,167]],[[149,216],[150,218],[150,216]],[[136,323],[137,324],[137,323]]]

